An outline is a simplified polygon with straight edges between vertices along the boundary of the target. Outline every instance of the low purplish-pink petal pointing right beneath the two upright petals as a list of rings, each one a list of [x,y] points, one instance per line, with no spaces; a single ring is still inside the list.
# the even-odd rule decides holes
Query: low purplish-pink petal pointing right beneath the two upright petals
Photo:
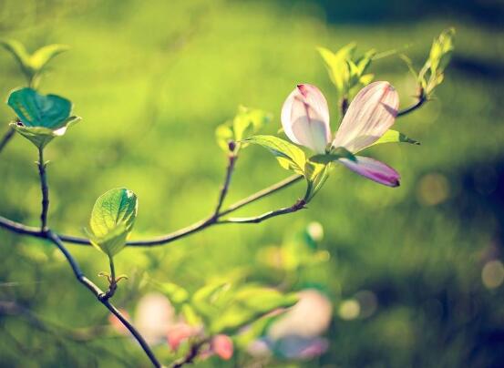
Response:
[[[347,158],[340,158],[339,161],[348,169],[351,169],[367,179],[374,180],[388,187],[399,186],[399,179],[401,179],[401,177],[395,169],[373,158],[365,158],[362,156],[356,156],[356,158],[356,162]]]

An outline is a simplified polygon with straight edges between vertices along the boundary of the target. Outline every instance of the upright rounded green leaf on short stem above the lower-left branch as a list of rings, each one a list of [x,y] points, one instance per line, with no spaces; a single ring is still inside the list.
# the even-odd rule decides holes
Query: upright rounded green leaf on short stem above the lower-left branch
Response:
[[[110,257],[117,254],[133,228],[137,211],[137,196],[129,189],[112,189],[100,196],[89,220],[93,244]]]

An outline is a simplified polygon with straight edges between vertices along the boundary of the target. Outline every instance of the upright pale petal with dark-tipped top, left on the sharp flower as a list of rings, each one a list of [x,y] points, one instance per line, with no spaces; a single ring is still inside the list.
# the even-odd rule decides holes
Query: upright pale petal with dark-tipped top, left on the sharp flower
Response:
[[[283,131],[294,143],[324,153],[331,140],[329,107],[317,87],[295,87],[283,103],[281,119]]]

